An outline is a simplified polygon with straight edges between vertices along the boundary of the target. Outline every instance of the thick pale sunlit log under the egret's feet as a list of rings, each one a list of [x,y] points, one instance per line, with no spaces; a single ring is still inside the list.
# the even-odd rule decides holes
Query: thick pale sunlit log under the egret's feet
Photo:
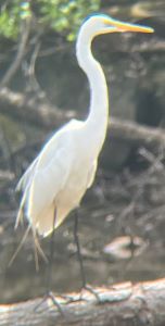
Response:
[[[79,301],[78,294],[71,294],[73,301],[69,303],[68,297],[56,298],[63,315],[52,305],[51,299],[0,305],[0,325],[165,325],[165,279],[96,290],[100,303],[91,293],[85,293],[85,300]]]

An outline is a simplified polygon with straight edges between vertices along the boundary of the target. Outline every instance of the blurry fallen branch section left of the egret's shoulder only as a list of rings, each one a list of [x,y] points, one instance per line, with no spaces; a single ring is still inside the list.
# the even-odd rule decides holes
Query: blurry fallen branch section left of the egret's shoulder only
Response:
[[[29,95],[13,92],[9,88],[0,90],[0,111],[16,121],[26,121],[27,124],[34,124],[48,130],[74,115],[73,112],[63,113],[46,101],[38,103]]]

